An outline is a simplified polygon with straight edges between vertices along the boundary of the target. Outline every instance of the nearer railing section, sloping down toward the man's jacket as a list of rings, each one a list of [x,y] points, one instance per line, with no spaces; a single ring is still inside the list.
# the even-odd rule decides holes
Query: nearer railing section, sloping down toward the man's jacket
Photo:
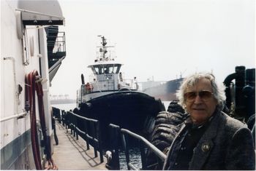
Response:
[[[151,150],[159,159],[159,161],[164,162],[166,159],[166,155],[162,153],[156,146],[151,144],[146,138],[143,138],[140,135],[135,134],[134,132],[130,132],[129,130],[126,129],[120,129],[115,124],[110,124],[110,136],[114,137],[114,140],[116,140],[116,143],[113,144],[112,148],[112,153],[113,153],[113,163],[119,162],[118,160],[118,140],[121,136],[121,143],[124,148],[124,154],[126,157],[126,162],[127,162],[127,169],[128,170],[147,170],[146,166],[146,148]],[[141,156],[141,163],[142,163],[142,168],[136,168],[129,159],[129,146],[127,139],[135,138],[138,140],[139,148],[140,148],[140,156]],[[119,170],[119,165],[113,169]]]

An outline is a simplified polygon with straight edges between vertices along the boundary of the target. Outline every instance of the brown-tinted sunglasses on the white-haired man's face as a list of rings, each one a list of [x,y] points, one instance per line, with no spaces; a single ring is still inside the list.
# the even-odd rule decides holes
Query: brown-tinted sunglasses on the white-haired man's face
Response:
[[[185,98],[186,101],[192,102],[192,101],[195,100],[197,95],[199,95],[201,100],[207,101],[212,97],[213,94],[214,93],[212,93],[211,91],[208,91],[208,90],[201,90],[199,92],[186,92],[184,94],[184,98]]]

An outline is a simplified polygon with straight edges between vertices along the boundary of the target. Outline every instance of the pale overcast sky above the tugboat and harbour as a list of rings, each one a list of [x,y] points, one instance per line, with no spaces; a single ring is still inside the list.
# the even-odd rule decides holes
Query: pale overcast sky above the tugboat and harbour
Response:
[[[59,1],[67,57],[52,81],[52,95],[76,97],[80,74],[96,57],[97,35],[116,44],[126,79],[176,79],[213,71],[219,82],[236,65],[255,68],[254,0]]]

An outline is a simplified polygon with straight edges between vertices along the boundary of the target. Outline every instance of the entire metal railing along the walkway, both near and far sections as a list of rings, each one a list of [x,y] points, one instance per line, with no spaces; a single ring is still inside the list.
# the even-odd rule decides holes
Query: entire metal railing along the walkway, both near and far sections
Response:
[[[99,136],[99,121],[74,114],[70,111],[62,111],[62,114],[59,114],[59,117],[61,118],[62,124],[66,126],[67,129],[71,129],[72,135],[76,137],[77,140],[78,135],[80,135],[83,140],[86,140],[87,149],[89,149],[89,145],[94,147],[95,157],[97,157],[97,151],[99,151],[100,162],[103,162],[102,144]],[[162,153],[162,151],[160,151],[156,146],[146,140],[146,138],[143,138],[134,132],[130,132],[129,130],[121,129],[115,124],[110,124],[109,126],[110,140],[113,140],[111,143],[112,148],[110,149],[112,152],[111,169],[120,170],[119,149],[121,146],[124,149],[128,170],[147,170],[146,150],[151,150],[152,153],[154,153],[159,159],[158,162],[165,161],[166,155]],[[128,146],[128,139],[130,140],[130,138],[135,138],[138,140],[142,168],[137,168],[130,162]]]

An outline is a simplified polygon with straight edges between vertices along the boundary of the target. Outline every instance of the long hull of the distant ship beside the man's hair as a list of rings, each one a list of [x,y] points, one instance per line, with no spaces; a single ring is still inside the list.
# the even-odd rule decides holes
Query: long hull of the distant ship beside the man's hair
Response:
[[[154,98],[159,98],[162,101],[172,101],[176,100],[176,91],[181,85],[183,79],[174,79],[167,81],[165,84],[160,84],[155,87],[147,88],[143,90],[148,95],[153,96]]]

